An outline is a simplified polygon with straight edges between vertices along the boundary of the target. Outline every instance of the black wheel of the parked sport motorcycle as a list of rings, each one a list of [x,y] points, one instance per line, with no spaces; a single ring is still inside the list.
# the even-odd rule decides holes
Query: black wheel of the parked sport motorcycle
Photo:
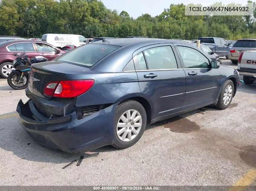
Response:
[[[25,75],[22,77],[22,80],[20,82],[16,82],[17,74],[14,72],[11,72],[11,74],[8,75],[7,82],[9,86],[15,90],[22,90],[28,87],[28,76]]]

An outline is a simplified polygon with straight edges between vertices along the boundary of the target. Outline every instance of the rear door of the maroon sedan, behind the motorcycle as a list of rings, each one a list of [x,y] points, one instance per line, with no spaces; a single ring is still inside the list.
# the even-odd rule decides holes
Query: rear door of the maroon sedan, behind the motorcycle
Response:
[[[21,54],[22,52],[26,52],[28,54],[28,58],[33,58],[38,56],[38,53],[35,51],[35,47],[32,42],[24,42],[24,43],[14,43],[7,46],[7,49],[11,54],[17,53]],[[13,59],[16,59],[17,56],[13,56]]]

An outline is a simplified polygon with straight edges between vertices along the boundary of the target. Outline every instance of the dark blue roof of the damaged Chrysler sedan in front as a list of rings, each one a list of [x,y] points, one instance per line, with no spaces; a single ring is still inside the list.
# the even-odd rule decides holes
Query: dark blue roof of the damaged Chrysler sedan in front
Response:
[[[96,41],[94,44],[108,44],[114,46],[128,46],[135,43],[143,43],[143,42],[152,42],[152,44],[158,43],[184,43],[188,44],[185,41],[178,41],[178,40],[167,40],[167,39],[157,39],[157,38],[114,38],[108,39],[105,42],[103,41]]]

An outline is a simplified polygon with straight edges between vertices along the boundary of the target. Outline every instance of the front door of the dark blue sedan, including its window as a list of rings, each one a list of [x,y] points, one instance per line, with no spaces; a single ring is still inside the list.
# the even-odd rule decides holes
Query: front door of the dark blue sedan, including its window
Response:
[[[214,102],[220,86],[219,70],[211,68],[210,60],[196,47],[175,45],[186,74],[186,94],[182,110]]]

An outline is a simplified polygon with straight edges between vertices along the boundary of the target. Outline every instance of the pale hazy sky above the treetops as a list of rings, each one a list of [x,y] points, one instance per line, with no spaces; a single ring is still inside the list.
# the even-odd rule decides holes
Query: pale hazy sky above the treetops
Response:
[[[201,3],[202,5],[211,5],[214,1],[209,0],[181,0],[181,1],[168,1],[168,0],[101,0],[104,5],[114,10],[116,9],[119,13],[121,11],[126,11],[130,17],[137,18],[141,14],[148,13],[152,17],[155,17],[161,14],[164,11],[164,8],[169,8],[172,3],[178,4],[188,4],[188,3]],[[210,2],[210,3],[209,3]],[[221,1],[216,1],[221,2]],[[241,3],[246,4],[247,0],[224,0],[222,3]],[[253,1],[254,2],[254,1]]]

